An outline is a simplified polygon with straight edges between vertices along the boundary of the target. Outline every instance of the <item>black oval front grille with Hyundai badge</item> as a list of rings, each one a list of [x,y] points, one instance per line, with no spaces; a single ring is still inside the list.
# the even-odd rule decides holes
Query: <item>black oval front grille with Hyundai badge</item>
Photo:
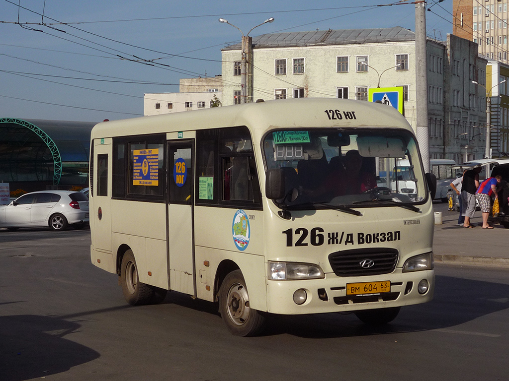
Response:
[[[369,248],[336,251],[329,263],[337,276],[362,276],[391,273],[398,263],[398,250]]]

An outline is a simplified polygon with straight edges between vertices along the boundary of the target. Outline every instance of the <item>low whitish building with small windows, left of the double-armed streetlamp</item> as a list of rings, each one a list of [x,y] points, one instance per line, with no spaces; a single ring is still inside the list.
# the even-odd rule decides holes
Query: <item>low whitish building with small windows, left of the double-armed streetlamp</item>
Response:
[[[213,102],[221,102],[221,89],[221,76],[183,78],[180,80],[179,92],[144,94],[144,114],[158,115],[209,108]]]

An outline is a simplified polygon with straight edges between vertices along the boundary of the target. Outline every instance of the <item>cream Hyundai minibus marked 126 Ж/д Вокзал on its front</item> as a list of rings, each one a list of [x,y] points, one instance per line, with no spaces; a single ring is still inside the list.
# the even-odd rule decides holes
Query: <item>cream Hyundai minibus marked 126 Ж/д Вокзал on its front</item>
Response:
[[[398,159],[412,197],[377,183]],[[251,336],[268,314],[385,324],[433,297],[433,185],[392,107],[291,99],[105,121],[90,168],[91,260],[129,304],[184,293]]]

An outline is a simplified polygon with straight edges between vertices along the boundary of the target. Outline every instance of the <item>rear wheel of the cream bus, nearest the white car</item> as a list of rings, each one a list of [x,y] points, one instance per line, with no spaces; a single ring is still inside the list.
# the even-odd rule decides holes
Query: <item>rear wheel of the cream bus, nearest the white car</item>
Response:
[[[132,250],[127,250],[120,267],[120,284],[124,298],[130,305],[150,304],[154,291],[138,278],[138,268]]]

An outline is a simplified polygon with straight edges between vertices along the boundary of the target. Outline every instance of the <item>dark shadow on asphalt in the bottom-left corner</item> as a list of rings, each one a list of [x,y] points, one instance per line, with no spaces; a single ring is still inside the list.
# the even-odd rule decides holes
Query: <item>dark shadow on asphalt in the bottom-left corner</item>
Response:
[[[0,316],[2,381],[44,378],[97,359],[96,351],[64,338],[80,327],[61,317]]]

